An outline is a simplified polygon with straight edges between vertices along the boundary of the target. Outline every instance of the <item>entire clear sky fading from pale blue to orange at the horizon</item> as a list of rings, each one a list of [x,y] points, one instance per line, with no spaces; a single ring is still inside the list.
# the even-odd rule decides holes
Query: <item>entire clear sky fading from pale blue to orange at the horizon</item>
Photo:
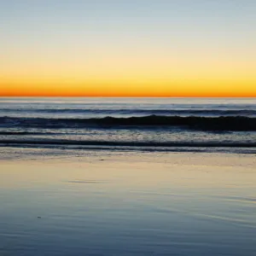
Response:
[[[256,96],[255,0],[0,0],[0,96]]]

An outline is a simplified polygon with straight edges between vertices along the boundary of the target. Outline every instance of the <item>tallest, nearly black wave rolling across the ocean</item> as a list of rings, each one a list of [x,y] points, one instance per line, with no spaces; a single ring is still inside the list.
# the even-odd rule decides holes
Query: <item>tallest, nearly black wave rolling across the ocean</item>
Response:
[[[179,127],[187,130],[201,131],[256,131],[256,118],[244,116],[161,116],[148,115],[130,118],[89,118],[89,119],[54,119],[54,118],[19,118],[0,117],[1,127],[29,127],[29,128],[154,128],[154,127]]]

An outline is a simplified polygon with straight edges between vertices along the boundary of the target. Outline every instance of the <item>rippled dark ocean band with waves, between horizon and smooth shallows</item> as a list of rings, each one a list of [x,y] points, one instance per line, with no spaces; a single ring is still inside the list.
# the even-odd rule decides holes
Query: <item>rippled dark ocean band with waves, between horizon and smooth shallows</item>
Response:
[[[255,98],[0,98],[0,145],[252,153]]]

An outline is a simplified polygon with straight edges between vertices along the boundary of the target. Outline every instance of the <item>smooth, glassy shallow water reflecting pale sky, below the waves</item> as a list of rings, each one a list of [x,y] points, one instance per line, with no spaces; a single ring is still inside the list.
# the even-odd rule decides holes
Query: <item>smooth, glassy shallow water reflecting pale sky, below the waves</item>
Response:
[[[0,255],[256,253],[252,154],[2,148],[0,156]]]

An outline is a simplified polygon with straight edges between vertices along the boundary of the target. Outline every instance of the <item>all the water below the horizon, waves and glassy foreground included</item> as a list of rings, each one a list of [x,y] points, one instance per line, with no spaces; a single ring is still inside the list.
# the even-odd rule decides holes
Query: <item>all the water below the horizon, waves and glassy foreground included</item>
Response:
[[[256,255],[256,99],[0,98],[0,255]]]

